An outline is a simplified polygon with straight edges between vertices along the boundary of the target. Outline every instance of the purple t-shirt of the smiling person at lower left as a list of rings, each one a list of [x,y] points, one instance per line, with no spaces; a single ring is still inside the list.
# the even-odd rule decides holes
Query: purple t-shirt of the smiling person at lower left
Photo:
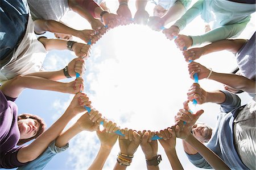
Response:
[[[14,100],[7,100],[0,90],[0,168],[15,168],[26,164],[17,159],[21,147],[14,148],[20,138],[18,107]]]

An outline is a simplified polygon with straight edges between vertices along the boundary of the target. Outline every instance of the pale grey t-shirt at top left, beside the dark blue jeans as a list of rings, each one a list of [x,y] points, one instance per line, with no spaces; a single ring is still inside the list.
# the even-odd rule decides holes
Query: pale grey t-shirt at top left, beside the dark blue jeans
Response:
[[[32,19],[59,21],[69,11],[68,0],[27,0]]]

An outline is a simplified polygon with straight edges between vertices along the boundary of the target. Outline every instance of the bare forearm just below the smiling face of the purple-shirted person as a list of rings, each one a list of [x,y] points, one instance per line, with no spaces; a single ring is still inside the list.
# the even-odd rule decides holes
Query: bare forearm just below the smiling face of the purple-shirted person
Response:
[[[72,111],[67,109],[65,113],[55,122],[51,127],[48,128],[42,135],[40,135],[34,142],[27,147],[23,147],[18,151],[17,159],[21,163],[26,163],[36,159],[41,155],[44,150],[48,147],[52,140],[56,139],[57,136],[63,131],[64,127],[74,117]]]

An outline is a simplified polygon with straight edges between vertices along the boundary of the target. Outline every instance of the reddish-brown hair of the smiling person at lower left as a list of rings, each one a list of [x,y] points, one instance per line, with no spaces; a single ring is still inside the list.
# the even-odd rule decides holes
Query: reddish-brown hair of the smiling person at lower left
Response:
[[[38,121],[39,123],[39,130],[38,132],[36,133],[35,136],[31,137],[31,138],[28,138],[28,139],[19,139],[19,142],[17,145],[22,145],[32,139],[35,139],[37,138],[39,135],[41,135],[44,130],[46,130],[46,123],[44,122],[44,120],[42,118],[40,118],[38,115],[33,115],[33,114],[21,114],[18,116],[18,121],[20,119],[35,119],[36,121]]]

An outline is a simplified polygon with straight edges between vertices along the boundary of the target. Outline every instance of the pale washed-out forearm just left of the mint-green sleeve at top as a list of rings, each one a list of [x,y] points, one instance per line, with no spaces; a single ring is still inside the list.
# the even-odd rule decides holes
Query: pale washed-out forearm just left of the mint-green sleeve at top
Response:
[[[174,6],[170,7],[166,15],[162,17],[164,25],[180,18],[185,13],[185,7],[181,3],[175,3]]]

